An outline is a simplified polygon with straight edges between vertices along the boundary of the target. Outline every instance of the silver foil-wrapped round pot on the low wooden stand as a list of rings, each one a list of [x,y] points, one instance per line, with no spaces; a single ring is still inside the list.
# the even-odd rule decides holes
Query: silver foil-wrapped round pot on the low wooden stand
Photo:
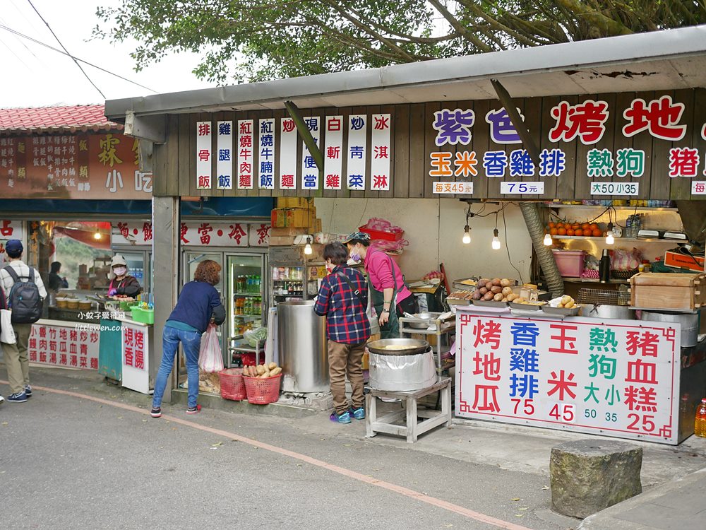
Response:
[[[429,346],[427,348],[426,351],[414,355],[381,355],[373,353],[371,349],[369,360],[371,389],[414,391],[431,387],[436,383],[437,375],[433,352]]]

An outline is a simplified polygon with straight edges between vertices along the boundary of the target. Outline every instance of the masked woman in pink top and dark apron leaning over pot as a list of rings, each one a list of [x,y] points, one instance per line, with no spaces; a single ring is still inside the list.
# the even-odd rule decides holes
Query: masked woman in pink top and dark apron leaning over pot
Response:
[[[368,273],[370,296],[378,314],[381,338],[400,337],[400,321],[405,312],[419,312],[417,298],[405,285],[400,267],[388,254],[370,247],[370,235],[354,232],[344,241],[351,259],[363,261]]]

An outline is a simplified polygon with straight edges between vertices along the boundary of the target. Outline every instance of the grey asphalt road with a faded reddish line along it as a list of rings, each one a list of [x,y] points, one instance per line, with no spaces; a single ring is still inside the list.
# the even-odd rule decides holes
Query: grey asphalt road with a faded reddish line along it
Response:
[[[150,418],[147,397],[67,374],[33,380],[110,404],[36,389],[0,407],[0,528],[568,528],[542,517],[542,476],[351,438],[346,425],[321,435],[169,406],[185,423]]]

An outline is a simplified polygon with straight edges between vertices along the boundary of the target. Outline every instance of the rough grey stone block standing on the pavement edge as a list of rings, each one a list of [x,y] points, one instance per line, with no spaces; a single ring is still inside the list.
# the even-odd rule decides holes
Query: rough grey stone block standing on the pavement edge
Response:
[[[578,440],[551,449],[549,479],[555,512],[584,519],[642,493],[642,447],[613,440]]]

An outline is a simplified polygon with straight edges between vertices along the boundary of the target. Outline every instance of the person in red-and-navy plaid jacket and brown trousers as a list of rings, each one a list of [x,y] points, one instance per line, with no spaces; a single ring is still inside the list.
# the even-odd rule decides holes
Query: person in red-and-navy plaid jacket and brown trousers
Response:
[[[335,411],[331,420],[351,423],[365,418],[363,408],[363,353],[370,338],[368,285],[359,271],[346,266],[348,249],[333,242],[323,249],[326,269],[318,291],[314,312],[326,317],[328,336],[328,372]],[[353,389],[352,407],[346,399],[346,375]]]

